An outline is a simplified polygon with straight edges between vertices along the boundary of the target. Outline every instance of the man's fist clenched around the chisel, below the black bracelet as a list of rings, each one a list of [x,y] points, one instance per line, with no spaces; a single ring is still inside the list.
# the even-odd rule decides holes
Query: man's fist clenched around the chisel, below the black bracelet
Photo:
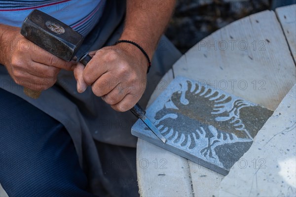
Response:
[[[74,70],[78,92],[86,85],[93,93],[117,111],[132,108],[143,95],[147,78],[148,62],[144,54],[128,43],[119,43],[90,53],[93,59]]]

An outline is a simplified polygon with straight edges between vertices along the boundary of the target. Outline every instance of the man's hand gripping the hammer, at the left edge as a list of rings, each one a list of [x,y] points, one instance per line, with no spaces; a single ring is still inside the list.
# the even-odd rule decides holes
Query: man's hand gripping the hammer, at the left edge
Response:
[[[41,49],[20,34],[20,28],[0,24],[0,64],[12,79],[26,88],[41,91],[54,85],[61,69],[74,70],[66,62]]]

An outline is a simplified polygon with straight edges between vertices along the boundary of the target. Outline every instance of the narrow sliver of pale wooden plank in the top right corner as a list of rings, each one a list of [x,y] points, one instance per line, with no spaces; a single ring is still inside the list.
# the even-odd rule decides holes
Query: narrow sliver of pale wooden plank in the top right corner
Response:
[[[275,12],[284,30],[294,61],[296,61],[296,4],[276,8]]]

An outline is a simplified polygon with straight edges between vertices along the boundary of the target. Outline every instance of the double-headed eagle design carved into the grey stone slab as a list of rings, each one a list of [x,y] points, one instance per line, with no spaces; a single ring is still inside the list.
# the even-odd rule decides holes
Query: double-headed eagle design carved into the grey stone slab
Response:
[[[257,110],[248,101],[232,99],[206,86],[185,81],[154,118],[167,140],[185,149],[202,147],[201,156],[218,159],[215,147],[253,141],[262,127],[250,117]]]

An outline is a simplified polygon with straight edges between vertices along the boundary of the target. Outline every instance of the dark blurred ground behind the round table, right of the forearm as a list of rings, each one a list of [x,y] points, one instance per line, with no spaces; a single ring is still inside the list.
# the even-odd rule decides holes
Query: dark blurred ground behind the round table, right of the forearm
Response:
[[[218,29],[271,6],[272,0],[177,0],[165,34],[185,53]]]

